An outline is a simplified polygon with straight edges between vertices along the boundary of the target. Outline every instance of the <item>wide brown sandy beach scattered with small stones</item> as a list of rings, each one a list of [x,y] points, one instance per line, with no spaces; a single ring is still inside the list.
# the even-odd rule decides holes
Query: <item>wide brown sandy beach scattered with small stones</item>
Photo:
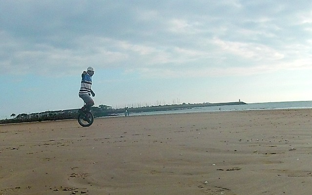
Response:
[[[0,125],[0,195],[311,195],[312,109]]]

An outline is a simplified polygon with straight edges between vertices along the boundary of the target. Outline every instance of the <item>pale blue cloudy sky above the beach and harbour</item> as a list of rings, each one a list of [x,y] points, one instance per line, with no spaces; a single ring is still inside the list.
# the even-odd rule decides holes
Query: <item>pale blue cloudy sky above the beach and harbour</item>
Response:
[[[312,100],[311,0],[0,0],[0,118]]]

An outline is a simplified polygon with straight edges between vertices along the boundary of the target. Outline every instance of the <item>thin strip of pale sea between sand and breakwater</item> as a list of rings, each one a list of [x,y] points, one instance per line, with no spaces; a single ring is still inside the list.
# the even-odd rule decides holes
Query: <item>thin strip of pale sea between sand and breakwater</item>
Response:
[[[208,106],[208,107],[178,109],[168,111],[130,113],[130,116],[180,114],[180,113],[230,112],[230,111],[247,111],[247,110],[305,109],[305,108],[312,108],[312,101],[285,101],[285,102],[247,103],[228,106]]]

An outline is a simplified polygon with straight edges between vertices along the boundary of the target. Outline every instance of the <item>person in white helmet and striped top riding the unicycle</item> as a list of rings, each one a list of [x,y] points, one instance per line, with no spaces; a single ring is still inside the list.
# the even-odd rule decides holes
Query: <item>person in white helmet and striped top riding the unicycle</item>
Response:
[[[81,86],[79,90],[79,98],[82,98],[85,105],[79,109],[79,113],[83,113],[83,111],[90,111],[91,107],[94,105],[94,101],[91,98],[95,96],[95,93],[91,89],[92,85],[92,76],[94,74],[94,68],[88,67],[87,71],[83,71],[81,75]]]

